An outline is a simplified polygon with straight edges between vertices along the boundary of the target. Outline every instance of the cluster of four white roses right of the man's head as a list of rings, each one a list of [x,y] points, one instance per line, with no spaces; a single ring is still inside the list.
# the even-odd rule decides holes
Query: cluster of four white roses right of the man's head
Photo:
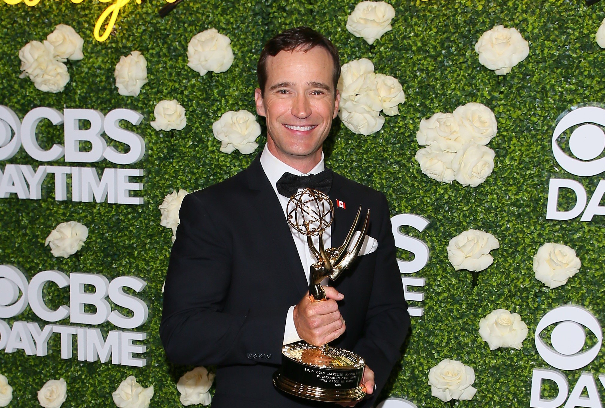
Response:
[[[454,180],[476,187],[494,169],[494,151],[486,146],[497,133],[494,113],[485,105],[471,102],[453,113],[437,112],[420,120],[416,152],[420,170],[442,183]]]

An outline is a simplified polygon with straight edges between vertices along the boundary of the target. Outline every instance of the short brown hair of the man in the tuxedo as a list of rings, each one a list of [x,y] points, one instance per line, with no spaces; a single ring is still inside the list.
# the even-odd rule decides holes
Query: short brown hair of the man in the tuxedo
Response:
[[[332,62],[334,64],[332,81],[334,82],[334,90],[336,90],[340,77],[340,57],[338,56],[338,49],[332,44],[332,41],[312,28],[296,27],[282,31],[267,41],[267,44],[263,47],[257,65],[258,86],[261,89],[261,93],[264,93],[264,87],[267,84],[267,58],[276,56],[280,51],[294,51],[299,49],[302,52],[307,52],[315,47],[324,48],[332,57]],[[336,97],[336,93],[334,96]]]

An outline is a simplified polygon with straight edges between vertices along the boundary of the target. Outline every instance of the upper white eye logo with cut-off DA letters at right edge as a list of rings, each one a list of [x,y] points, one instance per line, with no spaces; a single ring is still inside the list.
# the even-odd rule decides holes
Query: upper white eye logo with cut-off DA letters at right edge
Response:
[[[576,128],[569,136],[569,150],[575,157],[570,157],[561,149],[558,139],[565,131],[573,127]],[[561,168],[567,173],[580,177],[592,177],[603,173],[605,157],[597,159],[605,150],[603,128],[605,128],[605,109],[601,107],[585,106],[564,114],[552,134],[552,154]],[[574,192],[575,205],[573,208],[564,211],[557,209],[561,188],[571,189]],[[604,193],[605,180],[598,183],[588,201],[586,189],[577,180],[551,179],[548,186],[546,219],[571,220],[582,214],[581,221],[590,221],[595,215],[605,215],[605,206],[599,205]]]

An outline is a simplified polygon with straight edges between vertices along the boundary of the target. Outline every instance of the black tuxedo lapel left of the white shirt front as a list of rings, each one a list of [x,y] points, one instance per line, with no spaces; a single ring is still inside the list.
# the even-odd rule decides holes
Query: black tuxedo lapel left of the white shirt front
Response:
[[[280,205],[280,200],[275,194],[269,179],[263,171],[263,166],[260,162],[260,154],[253,160],[250,166],[246,169],[248,185],[250,189],[255,191],[253,203],[258,214],[261,216],[263,226],[266,228],[264,235],[269,237],[267,246],[267,262],[275,260],[283,266],[284,281],[289,279],[302,297],[307,290],[306,274],[309,271],[304,271],[302,263],[296,250],[296,245],[290,232],[290,226],[284,217],[283,209]]]

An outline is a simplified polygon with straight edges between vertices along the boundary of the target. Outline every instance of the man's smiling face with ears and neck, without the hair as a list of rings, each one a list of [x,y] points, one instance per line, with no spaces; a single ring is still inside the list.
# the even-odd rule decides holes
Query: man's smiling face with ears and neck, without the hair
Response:
[[[267,59],[266,69],[264,96],[258,88],[254,96],[257,113],[267,120],[267,147],[295,168],[295,163],[315,165],[340,100],[330,54],[322,47],[280,51]]]

